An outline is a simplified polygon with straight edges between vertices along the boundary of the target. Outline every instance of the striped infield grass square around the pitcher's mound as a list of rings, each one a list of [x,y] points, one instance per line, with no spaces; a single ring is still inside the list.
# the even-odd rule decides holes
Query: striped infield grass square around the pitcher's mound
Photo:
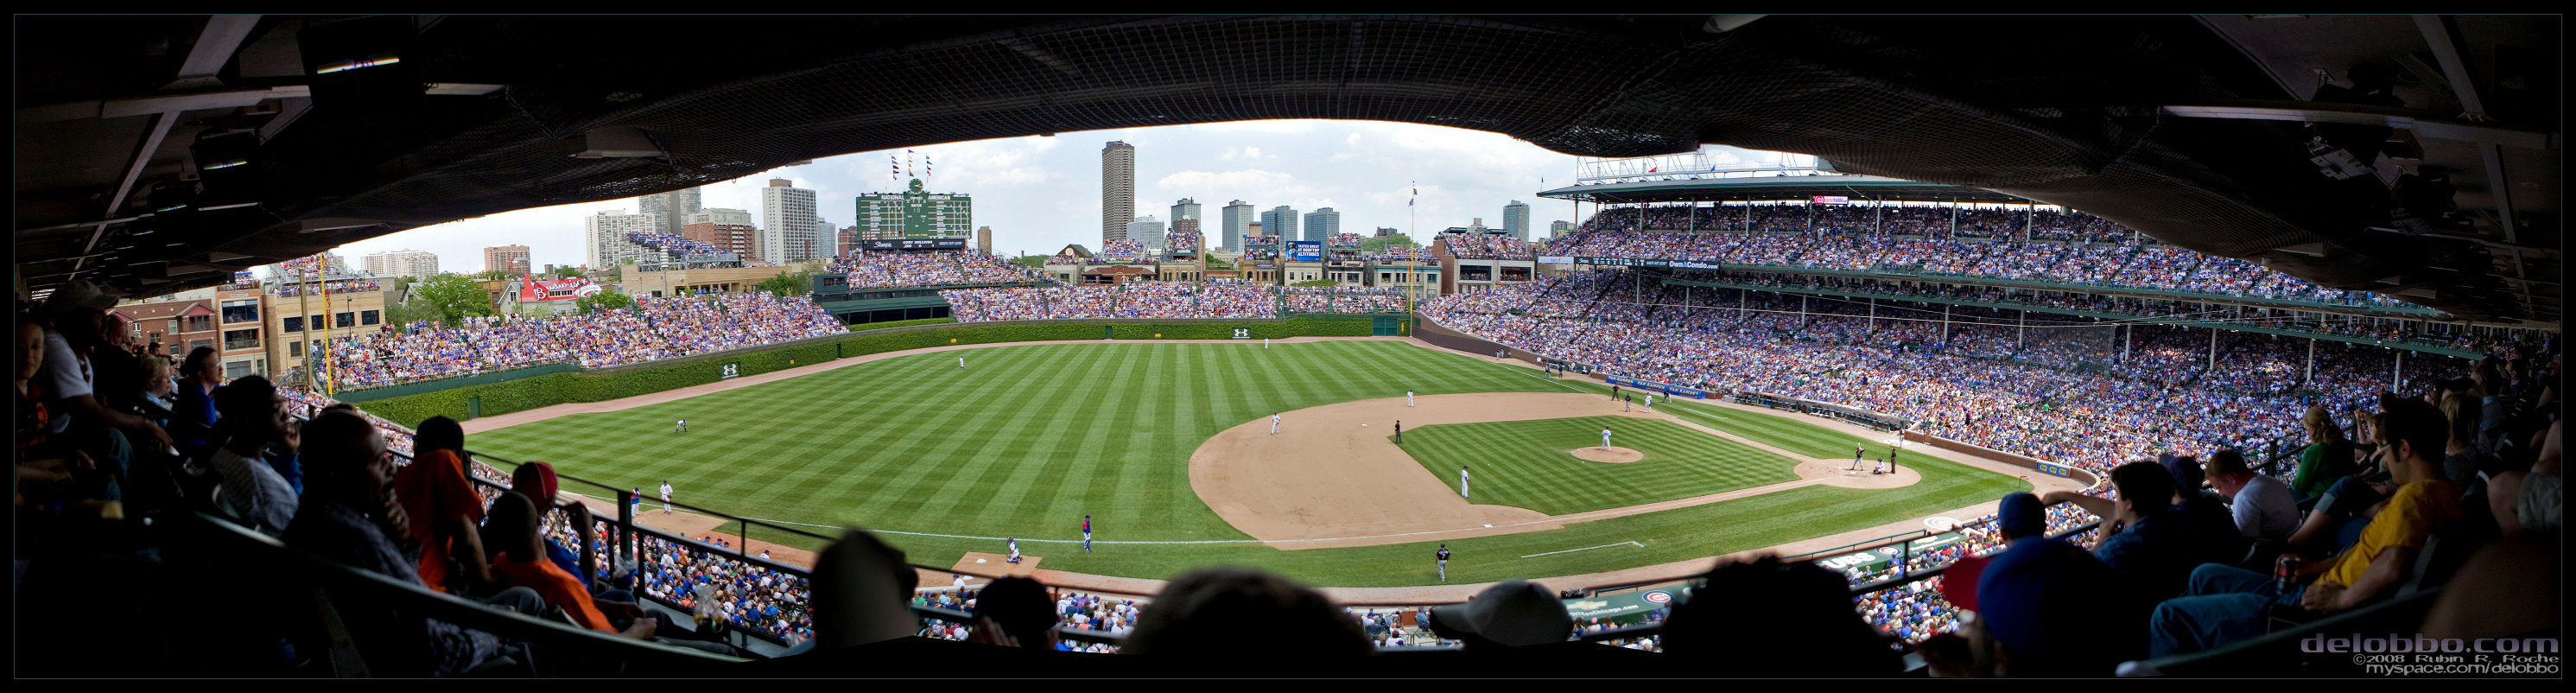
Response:
[[[1643,459],[1607,464],[1566,453],[1600,446],[1602,428],[1610,428],[1610,446],[1633,448]],[[1455,479],[1458,466],[1468,466],[1471,502],[1548,515],[1798,482],[1793,459],[1636,417],[1425,425],[1404,433],[1404,453],[1440,479]]]

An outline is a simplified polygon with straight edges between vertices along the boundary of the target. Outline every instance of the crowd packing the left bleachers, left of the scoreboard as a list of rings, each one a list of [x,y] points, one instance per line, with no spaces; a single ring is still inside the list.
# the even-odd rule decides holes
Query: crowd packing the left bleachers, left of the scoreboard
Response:
[[[464,317],[459,325],[381,325],[322,345],[337,389],[384,386],[526,368],[536,363],[623,366],[845,332],[809,296],[636,296],[636,309],[587,314]]]

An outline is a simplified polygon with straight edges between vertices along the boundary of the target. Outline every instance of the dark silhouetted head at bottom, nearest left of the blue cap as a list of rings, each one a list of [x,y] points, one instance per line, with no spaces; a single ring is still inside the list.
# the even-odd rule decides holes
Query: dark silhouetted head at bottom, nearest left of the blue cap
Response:
[[[1891,641],[1852,613],[1852,590],[1816,564],[1723,562],[1674,605],[1664,649],[1726,675],[1899,675]]]

